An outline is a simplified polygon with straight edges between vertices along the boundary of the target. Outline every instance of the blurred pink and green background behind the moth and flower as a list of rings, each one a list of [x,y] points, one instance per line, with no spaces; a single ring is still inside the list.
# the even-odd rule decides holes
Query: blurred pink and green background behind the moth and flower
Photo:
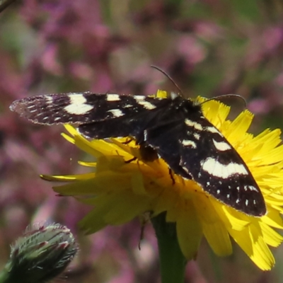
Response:
[[[43,93],[176,91],[151,64],[187,97],[246,98],[255,134],[282,128],[283,2],[23,0],[0,13],[0,267],[25,226],[59,221],[81,245],[67,282],[160,282],[151,225],[141,250],[138,220],[83,236],[76,223],[90,208],[57,197],[39,174],[85,172],[77,161],[87,157],[62,139],[63,127],[32,125],[8,110],[13,100]],[[272,250],[271,272],[233,250],[218,258],[203,241],[186,282],[283,282],[282,247]]]

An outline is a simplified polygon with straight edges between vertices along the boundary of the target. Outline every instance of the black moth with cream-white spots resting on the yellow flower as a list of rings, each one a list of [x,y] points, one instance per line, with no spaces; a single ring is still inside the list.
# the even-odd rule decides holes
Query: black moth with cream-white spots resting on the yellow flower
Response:
[[[37,124],[75,124],[91,139],[133,137],[220,202],[251,216],[266,214],[248,166],[190,99],[54,93],[16,100],[10,109]]]

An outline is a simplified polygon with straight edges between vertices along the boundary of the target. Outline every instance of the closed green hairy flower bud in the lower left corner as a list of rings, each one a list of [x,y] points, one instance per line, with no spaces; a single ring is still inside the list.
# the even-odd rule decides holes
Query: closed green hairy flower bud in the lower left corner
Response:
[[[11,247],[10,260],[1,276],[7,282],[40,283],[57,277],[78,251],[66,226],[52,224],[25,231]]]

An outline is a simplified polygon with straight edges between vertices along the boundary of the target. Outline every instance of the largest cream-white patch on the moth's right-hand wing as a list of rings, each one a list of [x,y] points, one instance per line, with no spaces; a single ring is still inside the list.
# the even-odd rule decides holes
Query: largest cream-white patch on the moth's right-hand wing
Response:
[[[246,170],[243,164],[239,163],[229,163],[229,164],[221,164],[214,158],[207,158],[201,162],[202,170],[206,171],[210,175],[213,175],[218,178],[229,178],[233,175],[248,175],[248,171]]]

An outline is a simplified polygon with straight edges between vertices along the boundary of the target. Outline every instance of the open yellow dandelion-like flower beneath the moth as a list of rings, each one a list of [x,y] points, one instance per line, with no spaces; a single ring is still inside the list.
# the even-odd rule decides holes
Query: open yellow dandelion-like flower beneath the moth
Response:
[[[166,93],[159,91],[158,96],[166,96]],[[197,99],[203,101],[203,98]],[[265,198],[265,216],[248,216],[227,207],[192,180],[174,175],[173,185],[167,164],[161,159],[142,161],[134,141],[88,141],[69,125],[66,129],[71,137],[64,134],[65,139],[95,157],[94,162],[80,162],[95,170],[82,175],[42,175],[42,178],[67,182],[54,187],[54,191],[74,195],[94,207],[80,222],[87,233],[95,233],[108,225],[124,224],[144,212],[151,212],[153,216],[166,212],[166,221],[176,224],[180,249],[188,260],[196,255],[202,236],[214,253],[221,256],[232,253],[233,238],[260,269],[270,270],[275,259],[269,246],[279,246],[283,239],[274,230],[283,229],[281,132],[266,129],[253,136],[247,132],[253,114],[244,110],[235,120],[226,120],[230,108],[219,101],[204,103],[202,110],[246,162]],[[137,159],[125,162],[133,157]]]

